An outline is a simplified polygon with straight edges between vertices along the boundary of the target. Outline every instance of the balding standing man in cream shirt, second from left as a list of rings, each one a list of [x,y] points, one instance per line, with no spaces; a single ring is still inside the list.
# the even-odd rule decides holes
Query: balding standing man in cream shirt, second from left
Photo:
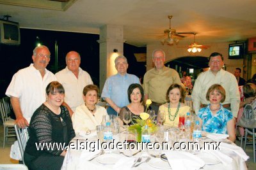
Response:
[[[66,55],[67,67],[55,74],[57,80],[65,89],[64,106],[67,106],[70,117],[76,110],[76,107],[83,104],[83,89],[86,85],[92,85],[93,81],[86,71],[81,69],[80,54],[74,51]]]

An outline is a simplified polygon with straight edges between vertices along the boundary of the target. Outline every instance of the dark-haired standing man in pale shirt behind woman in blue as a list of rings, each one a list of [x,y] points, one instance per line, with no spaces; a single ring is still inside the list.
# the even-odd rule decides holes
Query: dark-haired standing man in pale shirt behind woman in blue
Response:
[[[233,117],[237,117],[240,94],[236,77],[228,71],[221,69],[223,65],[224,62],[222,54],[218,52],[211,53],[209,57],[210,69],[198,76],[191,96],[193,100],[193,108],[196,114],[200,108],[209,104],[209,101],[207,101],[205,97],[209,87],[213,84],[220,84],[226,92],[226,99],[222,103],[223,107],[231,110]]]

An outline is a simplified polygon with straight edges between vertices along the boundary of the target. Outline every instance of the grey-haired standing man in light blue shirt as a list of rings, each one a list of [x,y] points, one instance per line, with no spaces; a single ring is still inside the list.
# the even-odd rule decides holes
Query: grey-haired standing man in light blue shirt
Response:
[[[108,115],[118,115],[120,109],[129,104],[127,95],[129,85],[140,84],[137,76],[127,73],[126,57],[116,57],[115,67],[118,73],[106,80],[101,94],[101,97],[108,103]]]

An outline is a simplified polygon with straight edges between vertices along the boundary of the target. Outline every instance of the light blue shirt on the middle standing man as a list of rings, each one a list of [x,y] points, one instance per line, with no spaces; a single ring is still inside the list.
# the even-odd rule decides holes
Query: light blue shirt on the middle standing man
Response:
[[[110,98],[119,108],[129,104],[127,90],[132,83],[140,84],[140,80],[133,74],[125,74],[122,76],[117,73],[110,76],[103,87],[101,97]]]

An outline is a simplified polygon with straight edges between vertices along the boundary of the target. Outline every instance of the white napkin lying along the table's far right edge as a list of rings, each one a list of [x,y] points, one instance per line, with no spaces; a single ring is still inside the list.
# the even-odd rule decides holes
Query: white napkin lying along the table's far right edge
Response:
[[[221,142],[220,143],[220,150],[232,150],[237,155],[239,155],[239,157],[241,157],[243,160],[246,161],[247,159],[249,159],[248,155],[246,155],[244,150],[241,147],[237,146],[237,145],[232,145],[232,144]]]

